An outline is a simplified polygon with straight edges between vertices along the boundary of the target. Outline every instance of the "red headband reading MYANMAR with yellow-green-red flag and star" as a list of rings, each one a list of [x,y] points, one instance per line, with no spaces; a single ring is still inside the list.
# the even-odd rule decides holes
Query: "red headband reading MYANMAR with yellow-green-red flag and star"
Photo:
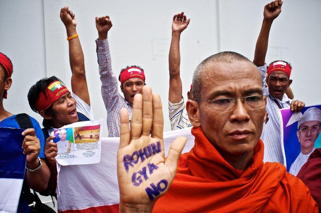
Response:
[[[69,92],[69,90],[60,81],[51,82],[49,86],[39,94],[36,103],[37,111],[40,112],[48,109],[56,100],[67,92]],[[47,98],[44,93],[46,93]]]

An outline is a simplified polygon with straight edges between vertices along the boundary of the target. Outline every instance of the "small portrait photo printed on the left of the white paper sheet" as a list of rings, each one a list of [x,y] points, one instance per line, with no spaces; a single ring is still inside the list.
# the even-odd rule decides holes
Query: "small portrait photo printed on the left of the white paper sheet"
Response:
[[[57,154],[74,152],[73,132],[73,128],[58,129],[54,131],[56,138],[53,142],[57,144]]]

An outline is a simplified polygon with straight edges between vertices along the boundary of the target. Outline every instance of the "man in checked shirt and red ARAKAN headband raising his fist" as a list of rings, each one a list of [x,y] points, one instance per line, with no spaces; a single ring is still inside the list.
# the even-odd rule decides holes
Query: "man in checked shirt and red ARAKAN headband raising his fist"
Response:
[[[120,71],[118,80],[122,97],[118,91],[117,77],[111,68],[111,58],[108,43],[108,31],[112,27],[109,16],[96,17],[98,39],[96,51],[101,81],[101,96],[107,110],[108,137],[119,137],[120,110],[127,108],[129,122],[133,115],[133,101],[136,94],[142,94],[145,85],[144,70],[140,66],[127,66]]]

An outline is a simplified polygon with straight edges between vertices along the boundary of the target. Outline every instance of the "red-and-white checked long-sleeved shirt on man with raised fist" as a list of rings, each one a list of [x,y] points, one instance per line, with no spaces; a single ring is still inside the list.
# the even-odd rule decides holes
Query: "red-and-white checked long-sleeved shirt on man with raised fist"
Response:
[[[108,38],[102,41],[97,39],[96,45],[101,81],[101,96],[107,109],[108,137],[119,137],[120,110],[122,108],[128,109],[130,121],[133,116],[133,106],[119,94],[117,78],[111,69]]]

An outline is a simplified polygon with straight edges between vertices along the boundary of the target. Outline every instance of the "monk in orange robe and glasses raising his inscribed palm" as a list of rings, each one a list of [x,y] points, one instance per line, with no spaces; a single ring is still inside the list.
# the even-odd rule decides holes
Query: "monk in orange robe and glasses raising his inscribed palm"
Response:
[[[164,158],[162,107],[150,87],[134,97],[131,130],[121,111],[120,212],[318,212],[301,180],[280,163],[263,162],[266,96],[249,59],[235,52],[206,58],[192,93],[195,146],[182,155],[186,138],[179,137]]]

